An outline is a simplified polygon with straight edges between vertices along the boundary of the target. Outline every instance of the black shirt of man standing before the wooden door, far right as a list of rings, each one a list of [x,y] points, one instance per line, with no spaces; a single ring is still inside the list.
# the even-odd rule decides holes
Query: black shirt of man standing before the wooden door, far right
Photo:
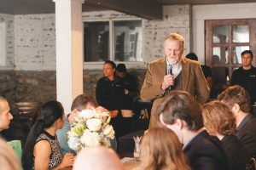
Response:
[[[256,101],[256,68],[252,66],[249,70],[239,67],[233,71],[231,85],[240,85],[250,94],[252,104]]]

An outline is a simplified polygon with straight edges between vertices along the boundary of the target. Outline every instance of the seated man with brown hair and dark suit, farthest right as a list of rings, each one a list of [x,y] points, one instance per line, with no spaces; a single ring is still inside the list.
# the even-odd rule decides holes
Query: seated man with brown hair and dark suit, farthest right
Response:
[[[236,117],[236,137],[241,141],[249,156],[256,156],[256,117],[250,113],[251,99],[245,88],[231,86],[218,95],[218,100],[228,105]]]

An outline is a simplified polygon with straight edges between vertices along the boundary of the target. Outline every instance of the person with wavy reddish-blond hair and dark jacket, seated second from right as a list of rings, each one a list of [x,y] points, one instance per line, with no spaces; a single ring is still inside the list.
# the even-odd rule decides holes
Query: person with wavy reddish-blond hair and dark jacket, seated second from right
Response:
[[[221,140],[229,159],[230,169],[245,169],[248,160],[247,150],[234,135],[236,118],[230,108],[215,100],[202,106],[202,115],[208,133]]]

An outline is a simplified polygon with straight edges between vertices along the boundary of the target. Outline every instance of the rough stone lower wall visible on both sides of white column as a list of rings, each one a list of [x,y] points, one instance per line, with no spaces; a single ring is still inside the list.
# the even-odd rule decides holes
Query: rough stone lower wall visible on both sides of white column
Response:
[[[138,79],[140,89],[145,70],[129,70]],[[84,71],[84,93],[95,96],[96,82],[102,77],[102,71]],[[10,103],[39,101],[44,103],[56,99],[55,71],[0,71],[0,96]]]

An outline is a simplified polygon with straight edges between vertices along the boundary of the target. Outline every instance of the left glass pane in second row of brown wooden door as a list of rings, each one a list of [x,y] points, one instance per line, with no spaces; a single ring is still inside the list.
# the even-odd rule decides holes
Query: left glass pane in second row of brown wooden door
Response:
[[[212,48],[212,65],[224,65],[229,63],[229,49],[214,47]]]

